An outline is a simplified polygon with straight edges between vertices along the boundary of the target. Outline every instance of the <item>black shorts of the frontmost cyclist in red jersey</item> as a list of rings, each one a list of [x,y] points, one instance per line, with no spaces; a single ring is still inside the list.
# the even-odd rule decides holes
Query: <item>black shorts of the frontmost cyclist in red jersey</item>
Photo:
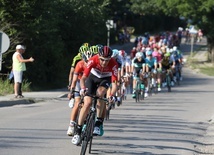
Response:
[[[95,75],[91,74],[88,76],[85,82],[86,88],[88,88],[88,94],[96,95],[97,88],[103,86],[108,89],[111,85],[111,76],[105,78],[98,78]]]

